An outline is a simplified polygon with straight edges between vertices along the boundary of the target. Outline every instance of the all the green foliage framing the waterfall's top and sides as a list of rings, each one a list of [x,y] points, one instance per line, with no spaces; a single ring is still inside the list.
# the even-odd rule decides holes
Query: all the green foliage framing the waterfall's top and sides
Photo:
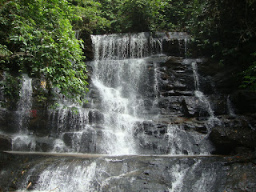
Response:
[[[87,91],[82,40],[87,34],[186,31],[194,57],[236,65],[255,87],[255,0],[2,0],[0,70],[46,80],[46,90],[81,101]],[[193,46],[194,45],[194,46]],[[7,92],[6,92],[7,93]],[[44,100],[43,94],[40,101]]]

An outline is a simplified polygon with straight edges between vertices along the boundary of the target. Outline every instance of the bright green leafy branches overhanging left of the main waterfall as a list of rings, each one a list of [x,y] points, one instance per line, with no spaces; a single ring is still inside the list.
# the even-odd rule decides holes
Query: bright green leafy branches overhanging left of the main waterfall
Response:
[[[76,10],[65,0],[6,2],[0,10],[1,69],[45,78],[47,90],[58,87],[80,102],[87,76],[83,42],[75,38],[71,25],[81,20]]]

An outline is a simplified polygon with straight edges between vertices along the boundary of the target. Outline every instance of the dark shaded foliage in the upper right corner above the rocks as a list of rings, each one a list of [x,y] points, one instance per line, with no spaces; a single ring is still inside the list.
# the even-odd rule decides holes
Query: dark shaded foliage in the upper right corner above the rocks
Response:
[[[187,29],[201,54],[224,66],[236,66],[242,87],[256,90],[256,2],[240,0],[194,1]],[[240,71],[239,71],[240,70]]]

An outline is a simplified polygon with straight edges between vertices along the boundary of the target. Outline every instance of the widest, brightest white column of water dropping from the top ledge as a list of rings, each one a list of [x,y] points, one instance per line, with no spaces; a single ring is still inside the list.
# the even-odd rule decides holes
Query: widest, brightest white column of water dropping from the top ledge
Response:
[[[146,58],[161,46],[142,34],[124,34],[121,37],[92,36],[94,45],[94,76],[92,82],[102,98],[104,130],[108,154],[136,154],[134,125],[145,114],[143,86],[149,82]]]

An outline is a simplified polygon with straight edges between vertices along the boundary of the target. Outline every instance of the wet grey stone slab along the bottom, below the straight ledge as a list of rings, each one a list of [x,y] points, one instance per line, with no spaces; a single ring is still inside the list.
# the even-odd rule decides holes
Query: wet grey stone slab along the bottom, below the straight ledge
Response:
[[[5,161],[9,159],[10,161]],[[255,191],[255,158],[1,154],[3,191]],[[79,178],[74,178],[74,174]],[[182,184],[182,185],[181,185]]]

